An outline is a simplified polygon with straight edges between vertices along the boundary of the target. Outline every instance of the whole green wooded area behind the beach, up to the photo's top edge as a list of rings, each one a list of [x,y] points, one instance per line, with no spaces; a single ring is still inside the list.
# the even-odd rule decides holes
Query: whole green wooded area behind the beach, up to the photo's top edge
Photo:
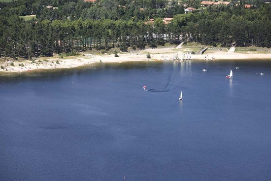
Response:
[[[0,2],[0,57],[31,59],[112,47],[126,51],[127,47],[143,49],[182,41],[271,47],[268,0],[232,4],[203,7],[200,0]],[[187,7],[193,11],[185,11]],[[26,15],[33,18],[26,20]],[[165,23],[164,18],[173,19]]]

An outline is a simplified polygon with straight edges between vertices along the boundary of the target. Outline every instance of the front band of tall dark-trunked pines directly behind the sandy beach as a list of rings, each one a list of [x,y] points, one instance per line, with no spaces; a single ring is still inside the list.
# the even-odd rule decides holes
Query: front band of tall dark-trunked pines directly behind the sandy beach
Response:
[[[1,10],[0,10],[1,11]],[[26,57],[53,53],[108,49],[111,47],[156,47],[165,42],[194,41],[216,46],[271,47],[271,4],[244,9],[210,6],[188,14],[176,14],[169,24],[155,18],[32,19],[0,15],[0,57]]]

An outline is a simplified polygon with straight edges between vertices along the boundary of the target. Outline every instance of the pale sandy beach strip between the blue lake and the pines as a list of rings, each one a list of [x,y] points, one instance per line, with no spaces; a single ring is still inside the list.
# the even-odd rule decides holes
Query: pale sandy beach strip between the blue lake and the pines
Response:
[[[151,58],[147,59],[147,53],[150,53]],[[136,52],[119,53],[119,57],[114,54],[88,54],[83,53],[80,56],[59,58],[54,57],[39,57],[33,61],[5,61],[0,63],[0,72],[27,72],[34,70],[47,70],[47,69],[67,69],[75,68],[94,63],[107,63],[107,62],[129,62],[129,61],[172,61],[174,57],[179,59],[186,59],[189,49],[187,48],[156,48],[145,49]],[[236,60],[236,59],[271,59],[271,53],[235,53],[231,50],[221,51],[216,50],[211,53],[204,54],[191,54],[190,60],[206,60],[206,61],[219,61],[219,60]],[[186,61],[186,60],[184,60]]]

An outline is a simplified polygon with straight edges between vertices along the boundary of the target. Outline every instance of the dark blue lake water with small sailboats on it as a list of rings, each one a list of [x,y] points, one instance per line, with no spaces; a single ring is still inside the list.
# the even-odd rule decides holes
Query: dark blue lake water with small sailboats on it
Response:
[[[0,181],[271,181],[271,61],[1,76],[0,163]]]

